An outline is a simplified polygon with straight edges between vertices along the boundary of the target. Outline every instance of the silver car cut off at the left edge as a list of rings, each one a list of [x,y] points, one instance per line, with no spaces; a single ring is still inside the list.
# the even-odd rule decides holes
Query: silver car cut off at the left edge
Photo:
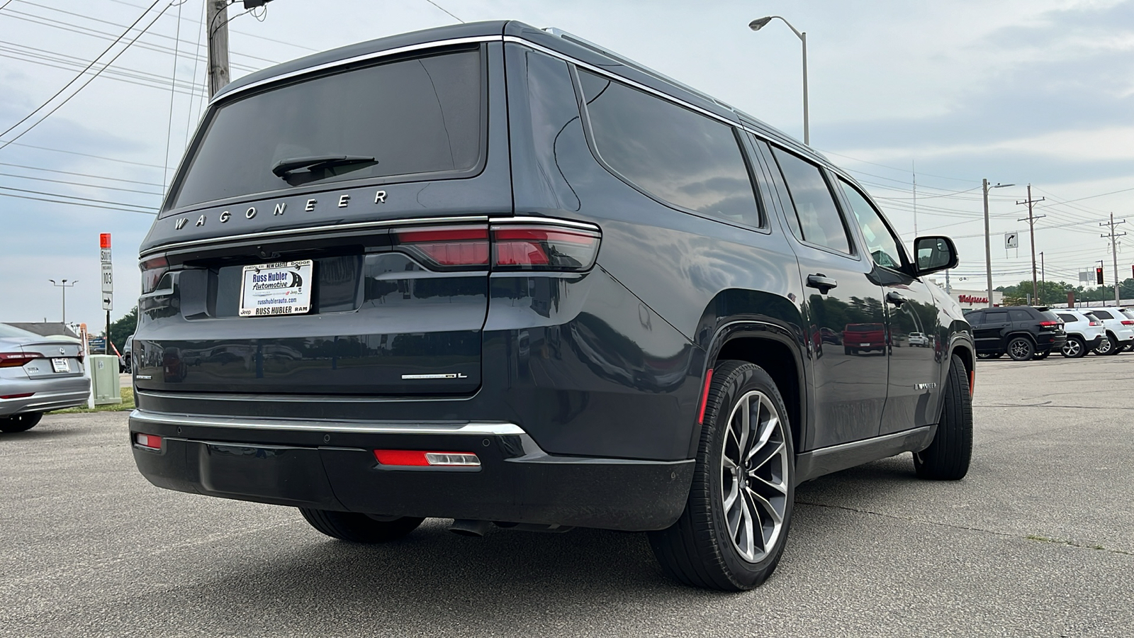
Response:
[[[83,346],[0,324],[0,431],[20,433],[44,412],[84,405]]]

